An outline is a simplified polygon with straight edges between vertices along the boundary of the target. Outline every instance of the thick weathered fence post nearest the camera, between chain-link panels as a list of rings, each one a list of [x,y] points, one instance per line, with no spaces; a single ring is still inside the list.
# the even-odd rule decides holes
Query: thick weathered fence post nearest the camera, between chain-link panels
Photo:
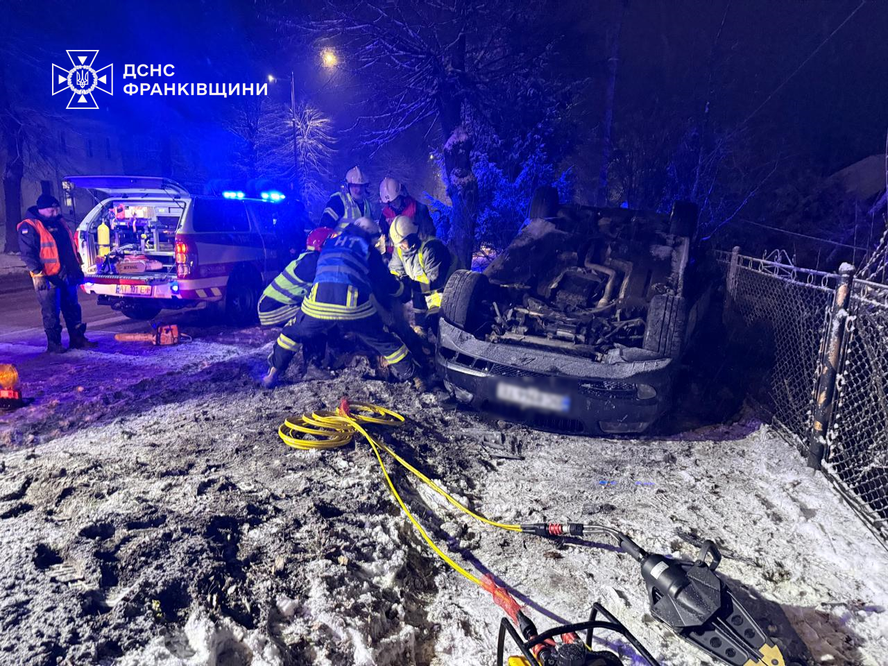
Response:
[[[845,323],[848,321],[848,301],[851,299],[851,286],[854,279],[854,266],[842,264],[838,269],[836,298],[829,316],[829,328],[821,349],[820,377],[817,378],[817,391],[814,394],[814,414],[811,432],[808,435],[808,467],[821,468],[826,452],[827,430],[836,398],[836,378],[838,377],[839,354],[842,351]]]

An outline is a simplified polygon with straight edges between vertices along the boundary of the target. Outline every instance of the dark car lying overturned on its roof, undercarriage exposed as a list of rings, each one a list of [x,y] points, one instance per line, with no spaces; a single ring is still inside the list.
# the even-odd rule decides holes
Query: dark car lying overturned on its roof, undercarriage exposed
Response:
[[[671,407],[712,294],[696,207],[563,205],[540,188],[528,217],[483,274],[448,281],[435,355],[445,386],[544,430],[644,432]]]

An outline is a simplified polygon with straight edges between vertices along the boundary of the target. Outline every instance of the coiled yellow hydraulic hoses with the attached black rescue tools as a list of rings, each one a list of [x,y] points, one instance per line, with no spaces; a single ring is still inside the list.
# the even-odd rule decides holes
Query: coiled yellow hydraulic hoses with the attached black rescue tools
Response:
[[[618,654],[592,648],[592,634],[596,629],[609,630],[621,635],[649,666],[659,665],[638,638],[635,638],[599,603],[593,605],[587,622],[567,624],[542,633],[536,630],[534,622],[521,610],[511,594],[497,585],[492,575],[479,577],[472,574],[432,542],[431,537],[426,534],[394,487],[383,462],[383,453],[391,456],[395,462],[423,481],[456,509],[491,527],[546,538],[593,535],[609,537],[622,551],[638,562],[642,580],[647,587],[651,614],[678,633],[681,638],[697,646],[718,662],[730,666],[785,666],[781,650],[773,638],[758,626],[749,611],[741,605],[737,596],[716,573],[721,554],[715,543],[704,541],[697,559],[694,562],[684,562],[647,552],[630,536],[605,525],[583,523],[511,525],[487,519],[458,502],[423,472],[395,453],[384,441],[377,440],[365,429],[365,426],[369,427],[371,424],[398,426],[403,423],[404,417],[389,409],[367,403],[349,403],[344,398],[336,411],[317,411],[311,415],[290,416],[284,424],[281,424],[278,434],[281,440],[291,447],[317,449],[345,446],[353,440],[355,432],[361,433],[377,457],[392,496],[425,543],[456,572],[488,591],[496,605],[508,616],[500,623],[496,650],[498,666],[503,664],[506,635],[514,640],[521,652],[521,656],[509,658],[509,666],[622,664]],[[599,615],[604,620],[600,620]],[[578,632],[582,631],[586,632],[584,641],[578,635]]]

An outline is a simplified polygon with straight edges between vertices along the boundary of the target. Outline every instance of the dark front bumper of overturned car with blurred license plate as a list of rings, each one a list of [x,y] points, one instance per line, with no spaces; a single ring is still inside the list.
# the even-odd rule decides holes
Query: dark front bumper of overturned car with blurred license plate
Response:
[[[457,400],[553,432],[644,432],[671,407],[674,359],[625,350],[599,362],[567,353],[490,343],[443,319],[437,369]]]

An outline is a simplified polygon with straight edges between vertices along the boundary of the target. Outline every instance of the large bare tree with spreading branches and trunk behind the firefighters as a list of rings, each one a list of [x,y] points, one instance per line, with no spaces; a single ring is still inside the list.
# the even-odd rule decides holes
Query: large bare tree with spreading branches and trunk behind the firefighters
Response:
[[[506,91],[547,76],[554,4],[521,0],[327,0],[300,23],[368,85],[361,95],[362,143],[372,151],[416,125],[441,141],[442,178],[452,205],[450,242],[468,261],[475,242],[478,181],[472,148],[480,125],[520,110]],[[551,21],[549,21],[551,28]],[[559,87],[554,76],[551,88]],[[353,96],[353,95],[352,95]]]

